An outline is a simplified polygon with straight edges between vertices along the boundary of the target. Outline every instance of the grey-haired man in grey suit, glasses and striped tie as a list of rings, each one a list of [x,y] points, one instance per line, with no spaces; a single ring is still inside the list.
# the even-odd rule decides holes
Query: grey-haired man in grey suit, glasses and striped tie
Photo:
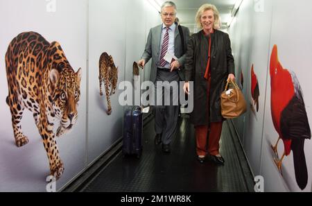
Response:
[[[184,80],[182,66],[184,65],[185,49],[187,48],[187,40],[189,39],[189,28],[181,26],[182,29],[180,29],[180,31],[182,30],[182,32],[180,32],[178,25],[175,23],[175,16],[177,13],[175,3],[166,1],[162,4],[161,8],[160,15],[163,24],[150,28],[145,51],[141,60],[138,62],[139,66],[143,68],[146,62],[152,58],[150,81],[155,84],[155,90],[159,89],[159,86],[157,87],[157,82],[170,84],[174,81],[179,83],[180,80]],[[183,39],[184,41],[182,43]],[[167,53],[175,55],[177,60],[173,59],[171,62],[164,60],[164,56]],[[163,97],[162,99],[164,99],[164,94],[168,94],[165,93],[164,90],[170,92],[171,97],[173,96],[174,89],[170,86],[164,86],[164,88],[161,89],[162,94],[160,94]],[[160,144],[162,142],[162,151],[164,153],[170,153],[170,143],[177,130],[177,119],[180,108],[178,105],[173,105],[171,100],[170,105],[156,105],[155,102],[154,109],[155,144]]]

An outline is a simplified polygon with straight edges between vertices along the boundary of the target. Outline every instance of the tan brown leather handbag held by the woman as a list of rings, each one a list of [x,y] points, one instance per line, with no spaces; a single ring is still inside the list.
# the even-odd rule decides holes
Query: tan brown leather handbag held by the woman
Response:
[[[231,89],[228,89],[232,85]],[[221,94],[221,114],[225,119],[239,117],[247,110],[247,104],[241,89],[235,81],[228,80]]]

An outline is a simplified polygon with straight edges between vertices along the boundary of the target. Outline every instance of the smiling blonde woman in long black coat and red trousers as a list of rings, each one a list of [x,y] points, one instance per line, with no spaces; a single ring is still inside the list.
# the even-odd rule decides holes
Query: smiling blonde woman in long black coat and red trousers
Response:
[[[223,117],[220,111],[220,94],[228,79],[235,79],[234,58],[229,35],[218,31],[219,13],[216,6],[202,5],[196,23],[202,30],[191,36],[185,61],[184,92],[189,94],[189,81],[193,81],[194,109],[191,123],[196,129],[196,152],[200,163],[207,154],[216,164],[224,164],[219,153]],[[207,136],[208,149],[207,149]]]

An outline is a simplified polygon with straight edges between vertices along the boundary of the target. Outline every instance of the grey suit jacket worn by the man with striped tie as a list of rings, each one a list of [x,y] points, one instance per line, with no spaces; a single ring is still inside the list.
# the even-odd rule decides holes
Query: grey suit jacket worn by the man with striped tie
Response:
[[[182,31],[184,35],[184,49],[187,50],[187,41],[189,40],[189,28],[182,26]],[[150,71],[150,81],[155,83],[156,75],[157,75],[157,67],[156,62],[158,59],[158,55],[160,53],[160,39],[162,35],[162,24],[159,26],[155,26],[150,28],[150,32],[148,33],[148,40],[146,42],[145,51],[141,57],[147,63],[150,58],[152,58],[152,66]],[[184,80],[184,62],[185,62],[185,53],[182,51],[182,42],[180,38],[179,29],[177,25],[175,27],[175,56],[177,57],[177,61],[180,62],[181,68],[178,71],[178,74],[181,80]]]

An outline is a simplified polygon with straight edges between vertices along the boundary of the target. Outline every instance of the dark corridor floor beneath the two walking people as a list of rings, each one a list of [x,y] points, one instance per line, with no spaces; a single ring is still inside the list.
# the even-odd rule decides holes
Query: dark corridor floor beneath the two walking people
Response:
[[[171,153],[162,153],[154,144],[154,121],[144,126],[143,153],[140,159],[123,157],[120,152],[89,182],[83,191],[118,192],[207,192],[252,191],[252,175],[238,138],[232,137],[229,122],[223,123],[220,153],[224,166],[209,160],[196,160],[196,141],[188,118],[180,118],[179,130],[171,143]]]

